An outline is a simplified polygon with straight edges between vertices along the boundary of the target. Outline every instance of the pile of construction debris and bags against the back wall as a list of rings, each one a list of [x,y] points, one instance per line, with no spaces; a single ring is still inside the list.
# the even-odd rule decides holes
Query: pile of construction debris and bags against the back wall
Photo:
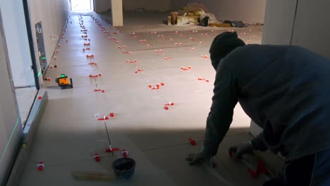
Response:
[[[203,4],[190,3],[179,11],[173,11],[164,22],[167,25],[200,25],[202,27],[246,27],[242,21],[216,20],[212,13],[207,13]]]

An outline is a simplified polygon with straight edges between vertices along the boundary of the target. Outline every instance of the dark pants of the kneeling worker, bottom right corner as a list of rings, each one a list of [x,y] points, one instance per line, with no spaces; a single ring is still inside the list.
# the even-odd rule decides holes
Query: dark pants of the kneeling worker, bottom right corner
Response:
[[[287,161],[278,178],[264,186],[328,186],[330,185],[330,149]]]

